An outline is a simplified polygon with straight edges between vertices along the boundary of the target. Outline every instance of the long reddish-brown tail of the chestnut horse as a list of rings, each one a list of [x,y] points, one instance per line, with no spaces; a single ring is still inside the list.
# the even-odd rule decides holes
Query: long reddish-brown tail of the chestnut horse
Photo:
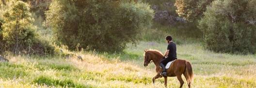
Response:
[[[187,83],[192,84],[193,82],[193,72],[192,72],[192,65],[189,61],[186,61],[186,68],[185,68],[185,73],[186,73],[186,78],[187,78]]]

